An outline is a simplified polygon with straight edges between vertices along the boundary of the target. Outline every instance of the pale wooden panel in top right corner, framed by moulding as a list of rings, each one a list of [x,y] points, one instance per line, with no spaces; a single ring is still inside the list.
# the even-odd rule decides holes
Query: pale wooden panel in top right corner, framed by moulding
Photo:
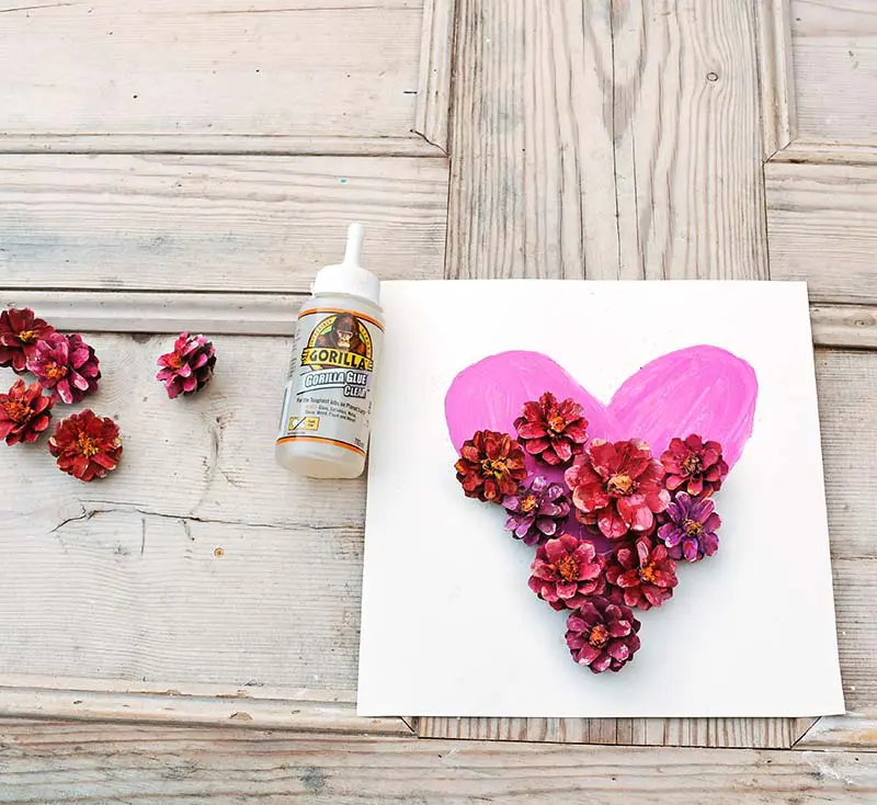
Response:
[[[877,7],[870,0],[791,0],[799,135],[877,145]]]

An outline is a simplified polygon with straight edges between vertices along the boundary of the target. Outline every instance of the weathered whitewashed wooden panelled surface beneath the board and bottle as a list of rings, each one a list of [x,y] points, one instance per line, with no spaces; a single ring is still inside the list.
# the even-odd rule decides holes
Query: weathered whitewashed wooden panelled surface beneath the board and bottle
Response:
[[[0,302],[86,335],[125,440],[88,486],[0,462],[0,803],[877,801],[870,0],[0,0]],[[383,279],[808,281],[846,715],[355,716],[365,485],[272,455],[354,219]],[[218,371],[171,402],[183,328]]]

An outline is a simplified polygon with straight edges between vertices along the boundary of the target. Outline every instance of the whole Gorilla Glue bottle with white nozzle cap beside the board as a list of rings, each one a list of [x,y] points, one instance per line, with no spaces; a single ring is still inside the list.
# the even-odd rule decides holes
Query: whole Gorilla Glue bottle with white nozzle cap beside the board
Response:
[[[317,273],[298,314],[275,455],[311,478],[365,468],[384,311],[380,281],[360,265],[363,234],[351,225],[344,262]]]

